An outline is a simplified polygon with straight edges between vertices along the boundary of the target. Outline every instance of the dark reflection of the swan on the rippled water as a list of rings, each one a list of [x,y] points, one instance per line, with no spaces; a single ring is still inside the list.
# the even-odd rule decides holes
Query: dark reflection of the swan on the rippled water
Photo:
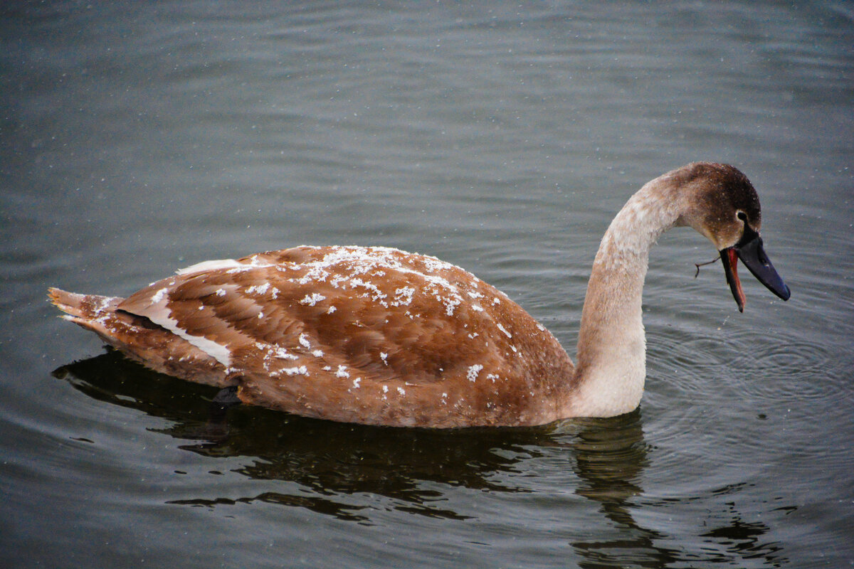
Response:
[[[779,544],[763,539],[770,528],[761,521],[747,522],[732,500],[723,500],[722,511],[709,512],[708,523],[701,523],[704,530],[695,536],[704,551],[701,556],[696,543],[686,550],[667,524],[650,521],[656,519],[650,517],[656,509],[725,498],[728,490],[712,491],[712,496],[648,496],[643,480],[654,449],[644,438],[640,410],[548,427],[367,427],[260,407],[224,413],[213,403],[216,388],[156,374],[114,351],[63,366],[54,374],[91,398],[170,421],[156,431],[184,441],[178,445],[182,450],[210,458],[237,457],[241,466],[231,472],[288,483],[285,489],[272,484],[270,490],[237,497],[233,485],[206,487],[206,496],[185,496],[171,504],[219,508],[262,502],[360,525],[386,523],[377,521],[378,513],[392,509],[424,519],[477,524],[484,522],[484,514],[471,507],[471,497],[460,499],[460,493],[483,492],[484,500],[507,496],[507,505],[501,507],[511,508],[511,496],[541,492],[560,498],[541,502],[548,515],[563,520],[547,528],[550,537],[559,538],[550,543],[570,547],[584,560],[583,566],[670,566],[697,560],[730,565],[746,559],[776,566],[785,560]],[[211,498],[209,492],[217,488],[228,496]],[[638,515],[645,508],[646,515]],[[525,535],[542,530],[532,525],[510,531]]]

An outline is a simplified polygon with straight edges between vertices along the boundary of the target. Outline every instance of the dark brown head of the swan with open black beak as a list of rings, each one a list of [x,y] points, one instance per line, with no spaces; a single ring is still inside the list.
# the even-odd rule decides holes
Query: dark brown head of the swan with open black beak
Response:
[[[765,287],[783,300],[791,296],[765,253],[759,228],[762,210],[750,180],[734,166],[699,162],[668,175],[687,198],[677,225],[689,225],[705,235],[721,254],[729,289],[739,311],[746,302],[738,274],[740,260]]]

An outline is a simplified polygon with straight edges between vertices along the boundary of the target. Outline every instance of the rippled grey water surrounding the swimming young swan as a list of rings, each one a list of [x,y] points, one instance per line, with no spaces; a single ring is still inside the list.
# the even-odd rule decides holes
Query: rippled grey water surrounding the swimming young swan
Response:
[[[850,3],[0,7],[0,565],[854,563]],[[635,413],[435,433],[209,413],[48,286],[376,244],[472,270],[574,352],[611,216],[733,163],[793,290],[681,229]],[[82,360],[79,361],[78,360]]]

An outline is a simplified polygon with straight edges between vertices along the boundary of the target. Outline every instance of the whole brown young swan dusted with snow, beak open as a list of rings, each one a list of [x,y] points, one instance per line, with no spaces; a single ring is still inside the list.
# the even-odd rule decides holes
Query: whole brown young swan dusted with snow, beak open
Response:
[[[646,183],[617,213],[588,282],[573,365],[504,293],[437,258],[387,247],[294,247],[195,264],[126,299],[50,289],[63,317],[149,369],[229,388],[246,404],[395,427],[541,425],[622,415],[646,378],[649,250],[688,226],[781,299],[756,190],[698,162]]]

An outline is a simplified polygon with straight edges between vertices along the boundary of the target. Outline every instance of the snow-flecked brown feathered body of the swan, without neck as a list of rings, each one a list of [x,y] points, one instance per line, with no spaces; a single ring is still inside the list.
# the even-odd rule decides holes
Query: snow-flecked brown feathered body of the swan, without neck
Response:
[[[110,318],[153,322],[153,341],[180,345],[182,357],[221,346],[228,365],[208,365],[216,373],[205,382],[237,381],[244,401],[274,409],[433,427],[552,419],[545,378],[571,370],[569,357],[518,305],[459,267],[382,247],[296,247],[237,262],[115,299]],[[159,371],[171,362],[131,350],[112,330],[99,334]]]

